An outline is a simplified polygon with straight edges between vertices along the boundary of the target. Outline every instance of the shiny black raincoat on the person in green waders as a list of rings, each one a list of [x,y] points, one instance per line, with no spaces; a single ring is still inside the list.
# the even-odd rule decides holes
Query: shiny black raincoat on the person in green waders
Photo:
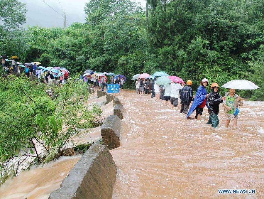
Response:
[[[219,113],[219,104],[223,102],[223,100],[221,100],[221,95],[219,94],[219,92],[214,92],[214,88],[212,88],[212,92],[209,93],[209,96],[207,98],[207,102],[208,102],[208,113],[209,114],[216,114],[218,115]]]

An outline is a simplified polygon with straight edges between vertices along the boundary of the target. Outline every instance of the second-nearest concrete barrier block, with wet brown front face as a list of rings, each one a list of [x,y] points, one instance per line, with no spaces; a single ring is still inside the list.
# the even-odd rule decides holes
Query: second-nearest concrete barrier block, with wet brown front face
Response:
[[[109,115],[101,126],[103,144],[107,149],[115,149],[120,146],[121,120],[117,115]]]

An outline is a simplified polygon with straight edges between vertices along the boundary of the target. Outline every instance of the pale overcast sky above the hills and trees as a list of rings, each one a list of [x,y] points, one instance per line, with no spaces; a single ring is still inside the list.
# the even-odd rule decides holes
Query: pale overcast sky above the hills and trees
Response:
[[[47,4],[43,2],[43,0],[19,0],[22,3],[26,4],[26,9],[28,10],[26,17],[27,21],[23,25],[23,27],[29,26],[41,26],[41,27],[61,27],[63,28],[63,10],[66,13],[66,17],[69,23],[74,22],[84,22],[85,21],[85,13],[84,13],[84,5],[85,2],[89,0],[59,0],[62,8],[60,7],[58,0],[44,0],[48,5],[50,5],[53,9],[51,9]],[[145,7],[145,0],[135,0],[136,2],[140,2],[141,6]]]

